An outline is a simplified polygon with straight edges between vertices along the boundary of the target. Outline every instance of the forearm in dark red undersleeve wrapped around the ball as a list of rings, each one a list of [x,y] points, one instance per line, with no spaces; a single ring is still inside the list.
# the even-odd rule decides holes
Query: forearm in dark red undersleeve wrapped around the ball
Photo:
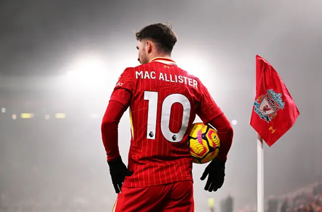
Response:
[[[232,144],[233,130],[231,124],[224,114],[212,119],[209,124],[216,128],[220,139],[220,149],[216,158],[225,161]]]

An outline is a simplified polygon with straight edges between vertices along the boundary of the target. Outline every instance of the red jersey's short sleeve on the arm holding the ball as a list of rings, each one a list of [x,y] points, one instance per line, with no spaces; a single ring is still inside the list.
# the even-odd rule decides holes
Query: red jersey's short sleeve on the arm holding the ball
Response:
[[[205,124],[207,124],[212,119],[223,114],[223,112],[211,97],[208,89],[202,83],[200,83],[200,92],[201,99],[196,114]]]

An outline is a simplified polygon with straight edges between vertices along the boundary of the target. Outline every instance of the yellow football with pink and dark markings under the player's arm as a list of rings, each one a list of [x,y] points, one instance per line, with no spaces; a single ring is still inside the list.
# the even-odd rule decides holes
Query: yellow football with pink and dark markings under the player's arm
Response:
[[[212,161],[219,153],[220,139],[217,131],[201,122],[192,125],[188,145],[192,162],[205,164]]]

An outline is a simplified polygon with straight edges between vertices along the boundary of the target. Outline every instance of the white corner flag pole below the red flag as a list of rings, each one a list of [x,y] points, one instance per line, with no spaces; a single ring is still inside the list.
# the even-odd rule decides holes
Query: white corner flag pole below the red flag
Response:
[[[264,150],[263,139],[257,133],[257,212],[264,212]]]

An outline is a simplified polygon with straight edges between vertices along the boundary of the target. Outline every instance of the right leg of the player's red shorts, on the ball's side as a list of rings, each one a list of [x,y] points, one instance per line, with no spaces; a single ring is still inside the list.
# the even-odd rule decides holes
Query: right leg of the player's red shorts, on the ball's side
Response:
[[[189,180],[173,183],[162,211],[193,212],[194,208],[193,182]]]

